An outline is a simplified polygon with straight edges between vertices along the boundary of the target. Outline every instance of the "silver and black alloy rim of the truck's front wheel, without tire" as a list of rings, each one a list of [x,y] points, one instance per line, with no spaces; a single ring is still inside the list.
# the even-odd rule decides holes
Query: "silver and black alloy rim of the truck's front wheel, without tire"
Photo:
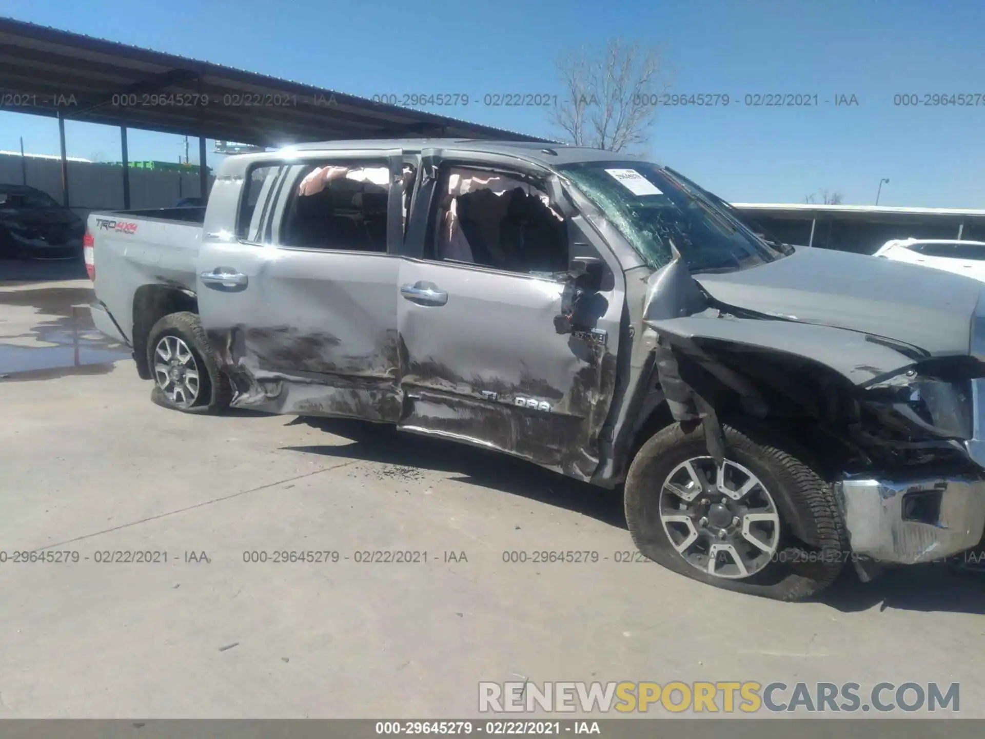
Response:
[[[776,554],[780,517],[773,497],[748,468],[726,459],[692,457],[664,480],[660,522],[691,567],[715,577],[743,579]]]

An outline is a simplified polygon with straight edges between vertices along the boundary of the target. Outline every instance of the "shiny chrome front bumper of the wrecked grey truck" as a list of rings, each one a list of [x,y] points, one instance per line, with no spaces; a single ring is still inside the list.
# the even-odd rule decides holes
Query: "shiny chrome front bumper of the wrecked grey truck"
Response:
[[[852,553],[916,565],[971,549],[985,531],[985,472],[835,483]]]

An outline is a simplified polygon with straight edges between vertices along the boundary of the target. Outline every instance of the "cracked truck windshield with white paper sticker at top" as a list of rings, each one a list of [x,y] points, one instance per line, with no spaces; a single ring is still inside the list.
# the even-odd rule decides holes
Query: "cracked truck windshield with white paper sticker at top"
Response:
[[[667,169],[588,162],[561,171],[654,268],[671,261],[672,243],[692,273],[732,272],[783,256],[717,198]]]

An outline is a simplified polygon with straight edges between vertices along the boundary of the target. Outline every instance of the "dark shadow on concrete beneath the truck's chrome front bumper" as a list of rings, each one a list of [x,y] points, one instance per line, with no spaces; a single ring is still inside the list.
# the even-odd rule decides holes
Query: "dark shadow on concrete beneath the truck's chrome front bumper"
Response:
[[[845,613],[879,606],[880,611],[985,614],[985,573],[956,571],[945,564],[915,565],[860,582],[849,570],[818,600]]]

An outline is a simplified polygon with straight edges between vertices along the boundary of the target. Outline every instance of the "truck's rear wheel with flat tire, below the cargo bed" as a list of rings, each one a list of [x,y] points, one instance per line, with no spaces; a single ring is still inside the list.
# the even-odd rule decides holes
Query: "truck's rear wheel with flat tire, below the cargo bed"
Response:
[[[164,408],[218,414],[230,407],[230,378],[216,364],[195,313],[170,313],[154,324],[147,340],[147,366],[154,380],[151,400]],[[168,368],[166,383],[163,368]],[[192,382],[189,370],[197,382]]]

